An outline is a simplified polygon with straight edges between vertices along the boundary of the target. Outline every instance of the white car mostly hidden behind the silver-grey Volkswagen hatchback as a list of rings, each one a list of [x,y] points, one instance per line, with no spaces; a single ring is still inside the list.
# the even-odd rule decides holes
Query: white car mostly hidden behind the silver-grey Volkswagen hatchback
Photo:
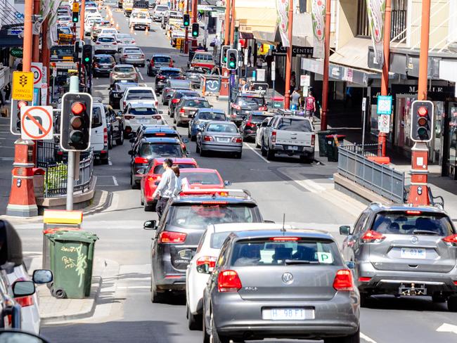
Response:
[[[197,253],[186,269],[186,316],[190,330],[201,330],[203,291],[228,235],[237,231],[278,230],[283,227],[294,228],[290,225],[269,223],[215,224],[207,227],[200,239]]]

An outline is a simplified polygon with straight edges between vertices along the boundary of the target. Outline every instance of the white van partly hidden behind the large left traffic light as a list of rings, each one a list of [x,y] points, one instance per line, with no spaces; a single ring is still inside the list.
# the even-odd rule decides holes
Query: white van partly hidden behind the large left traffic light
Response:
[[[101,164],[108,164],[108,123],[100,98],[94,98],[92,104],[91,148]]]

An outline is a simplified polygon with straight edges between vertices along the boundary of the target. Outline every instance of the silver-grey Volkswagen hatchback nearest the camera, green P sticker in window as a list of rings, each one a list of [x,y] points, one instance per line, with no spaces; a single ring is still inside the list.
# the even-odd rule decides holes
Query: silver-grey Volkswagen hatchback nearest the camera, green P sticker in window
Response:
[[[332,236],[296,229],[231,233],[203,295],[203,338],[358,343],[359,292]]]

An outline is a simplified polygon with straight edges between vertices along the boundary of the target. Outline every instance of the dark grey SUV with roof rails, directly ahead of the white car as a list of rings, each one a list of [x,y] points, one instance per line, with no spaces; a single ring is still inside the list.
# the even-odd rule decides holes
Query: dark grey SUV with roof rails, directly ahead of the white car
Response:
[[[165,301],[168,291],[186,291],[186,268],[208,225],[223,223],[262,223],[255,200],[233,190],[188,190],[169,200],[160,224],[146,221],[154,230],[151,247],[151,301]],[[228,193],[222,196],[220,193]]]

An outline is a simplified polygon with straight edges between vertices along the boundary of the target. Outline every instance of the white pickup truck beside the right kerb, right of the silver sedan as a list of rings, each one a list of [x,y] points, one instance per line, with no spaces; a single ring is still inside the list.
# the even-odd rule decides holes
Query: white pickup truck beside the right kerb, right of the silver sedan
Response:
[[[276,154],[300,156],[302,162],[314,160],[316,134],[308,118],[275,115],[264,130],[262,155],[267,160]]]

